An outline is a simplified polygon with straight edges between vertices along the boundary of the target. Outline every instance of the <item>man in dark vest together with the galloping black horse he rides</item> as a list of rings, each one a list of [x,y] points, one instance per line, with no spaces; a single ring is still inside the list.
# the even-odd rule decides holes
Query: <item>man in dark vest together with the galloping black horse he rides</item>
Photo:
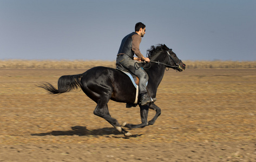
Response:
[[[145,35],[145,25],[137,23],[135,25],[135,32],[123,38],[116,60],[117,64],[121,64],[124,68],[127,68],[140,78],[139,87],[140,93],[142,93],[141,103],[139,103],[141,116],[140,124],[128,124],[126,122],[120,124],[115,118],[110,116],[108,109],[109,100],[120,103],[134,103],[136,99],[137,91],[134,88],[134,84],[128,79],[129,77],[126,74],[120,72],[118,69],[95,66],[77,75],[61,76],[58,79],[57,89],[50,83],[43,83],[38,86],[51,94],[60,94],[75,89],[81,89],[97,104],[93,111],[96,116],[107,120],[107,122],[113,125],[119,132],[123,133],[124,136],[130,137],[132,134],[122,127],[136,129],[153,125],[160,116],[160,107],[150,102],[155,101],[154,97],[156,97],[157,87],[163,78],[165,70],[172,68],[181,72],[186,68],[186,65],[176,56],[173,50],[169,49],[165,44],[152,46],[151,49],[148,50],[148,58],[143,57],[139,50],[139,44],[143,35]],[[133,57],[134,54],[137,56],[136,58]],[[150,64],[150,68],[144,71],[142,68],[134,67],[135,62],[138,60],[144,60],[152,64]],[[148,84],[146,84],[147,80]],[[152,96],[153,99],[148,95]],[[155,116],[148,121],[149,109],[155,110]]]

